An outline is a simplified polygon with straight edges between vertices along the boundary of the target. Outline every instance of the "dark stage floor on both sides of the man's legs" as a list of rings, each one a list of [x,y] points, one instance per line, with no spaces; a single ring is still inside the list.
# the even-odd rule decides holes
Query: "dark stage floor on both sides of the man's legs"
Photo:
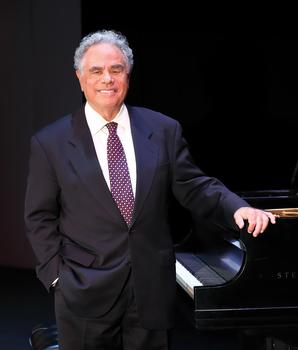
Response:
[[[52,295],[47,293],[32,270],[0,267],[0,273],[0,350],[30,350],[32,328],[55,322]],[[198,332],[177,311],[177,327],[170,332],[170,349],[242,350],[243,347],[235,332]]]

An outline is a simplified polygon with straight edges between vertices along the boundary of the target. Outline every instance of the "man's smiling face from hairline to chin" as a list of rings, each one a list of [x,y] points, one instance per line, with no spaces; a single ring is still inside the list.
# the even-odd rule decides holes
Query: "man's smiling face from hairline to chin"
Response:
[[[108,43],[91,46],[76,74],[89,104],[105,119],[113,119],[129,87],[127,62],[118,47]]]

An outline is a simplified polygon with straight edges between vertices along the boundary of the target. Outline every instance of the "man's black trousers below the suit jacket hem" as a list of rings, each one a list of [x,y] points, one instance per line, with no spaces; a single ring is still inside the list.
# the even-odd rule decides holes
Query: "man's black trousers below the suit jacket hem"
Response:
[[[73,314],[59,290],[55,313],[59,350],[167,350],[166,330],[144,329],[139,322],[131,277],[112,309],[99,318]]]

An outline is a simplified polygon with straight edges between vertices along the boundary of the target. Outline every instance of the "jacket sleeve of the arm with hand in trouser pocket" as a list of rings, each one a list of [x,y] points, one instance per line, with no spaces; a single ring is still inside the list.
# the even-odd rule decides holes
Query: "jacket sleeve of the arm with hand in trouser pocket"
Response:
[[[59,184],[37,136],[31,139],[25,195],[26,234],[37,258],[37,277],[49,290],[59,273]]]

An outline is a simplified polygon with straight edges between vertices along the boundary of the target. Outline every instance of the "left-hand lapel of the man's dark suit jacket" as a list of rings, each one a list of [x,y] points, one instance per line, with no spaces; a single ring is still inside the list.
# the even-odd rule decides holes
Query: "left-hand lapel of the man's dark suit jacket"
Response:
[[[73,116],[68,151],[71,164],[85,188],[111,215],[121,216],[100,168],[83,109]]]

